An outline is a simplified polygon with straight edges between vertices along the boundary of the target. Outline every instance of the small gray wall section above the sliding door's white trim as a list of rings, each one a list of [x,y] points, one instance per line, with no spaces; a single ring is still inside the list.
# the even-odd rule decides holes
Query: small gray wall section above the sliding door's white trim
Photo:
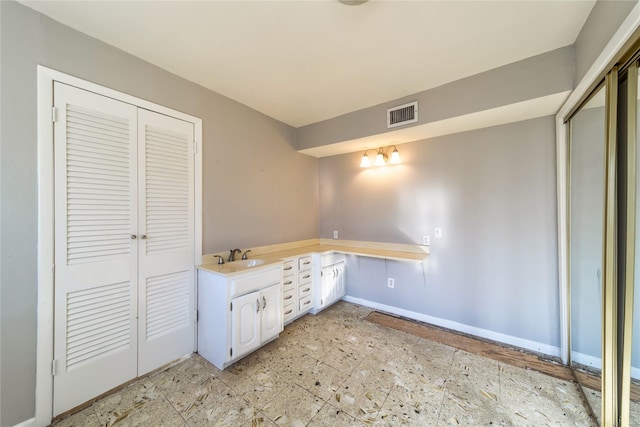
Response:
[[[576,84],[582,80],[636,4],[636,0],[596,2],[575,42]]]

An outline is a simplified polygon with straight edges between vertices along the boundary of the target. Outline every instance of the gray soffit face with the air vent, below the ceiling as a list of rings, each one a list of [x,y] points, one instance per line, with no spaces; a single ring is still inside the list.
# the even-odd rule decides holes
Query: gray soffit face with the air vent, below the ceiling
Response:
[[[563,47],[411,96],[298,129],[298,149],[383,134],[387,108],[418,101],[417,126],[573,89],[574,50]]]

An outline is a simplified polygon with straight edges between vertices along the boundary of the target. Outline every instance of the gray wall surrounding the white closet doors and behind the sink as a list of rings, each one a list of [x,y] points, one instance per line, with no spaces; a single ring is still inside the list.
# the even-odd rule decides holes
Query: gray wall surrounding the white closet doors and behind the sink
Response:
[[[0,2],[0,425],[35,414],[36,64],[203,119],[204,251],[317,237],[317,160],[295,129],[13,1]]]

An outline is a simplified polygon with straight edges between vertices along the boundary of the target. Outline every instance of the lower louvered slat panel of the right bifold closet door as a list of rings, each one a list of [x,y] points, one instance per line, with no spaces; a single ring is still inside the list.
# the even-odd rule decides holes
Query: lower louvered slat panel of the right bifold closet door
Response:
[[[189,271],[147,278],[147,341],[189,324]]]

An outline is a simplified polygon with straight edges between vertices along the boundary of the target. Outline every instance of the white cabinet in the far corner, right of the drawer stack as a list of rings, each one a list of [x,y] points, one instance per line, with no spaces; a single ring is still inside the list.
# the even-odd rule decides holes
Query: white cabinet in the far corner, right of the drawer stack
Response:
[[[336,303],[346,294],[344,255],[323,255],[320,265],[320,283],[314,294],[313,314]]]

